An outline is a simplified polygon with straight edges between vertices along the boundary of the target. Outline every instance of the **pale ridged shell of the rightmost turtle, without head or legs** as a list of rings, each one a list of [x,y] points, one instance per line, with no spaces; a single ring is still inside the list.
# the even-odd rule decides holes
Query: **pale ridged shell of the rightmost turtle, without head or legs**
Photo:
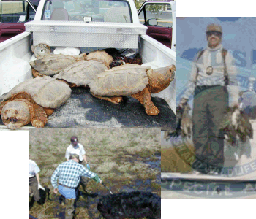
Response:
[[[146,71],[151,67],[127,64],[98,74],[89,83],[91,93],[98,96],[129,96],[148,84]]]

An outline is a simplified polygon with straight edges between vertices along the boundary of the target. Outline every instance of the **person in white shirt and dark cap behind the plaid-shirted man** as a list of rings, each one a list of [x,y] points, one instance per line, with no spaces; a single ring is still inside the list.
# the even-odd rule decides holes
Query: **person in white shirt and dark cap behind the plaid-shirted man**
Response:
[[[65,155],[65,158],[67,158],[67,161],[69,160],[69,156],[71,154],[77,154],[77,155],[79,155],[79,164],[82,164],[83,166],[86,166],[87,169],[91,170],[91,168],[86,160],[86,151],[84,150],[83,145],[81,145],[78,142],[78,137],[72,136],[70,138],[70,142],[71,142],[71,144],[69,145],[69,147],[67,147],[66,155]],[[88,193],[86,191],[86,185],[87,185],[86,177],[81,177],[80,185],[82,185],[83,191]]]

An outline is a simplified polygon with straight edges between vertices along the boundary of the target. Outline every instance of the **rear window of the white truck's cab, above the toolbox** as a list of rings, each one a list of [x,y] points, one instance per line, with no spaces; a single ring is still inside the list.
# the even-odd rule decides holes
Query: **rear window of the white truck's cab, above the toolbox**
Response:
[[[42,20],[132,23],[127,1],[108,0],[49,0],[45,3]]]

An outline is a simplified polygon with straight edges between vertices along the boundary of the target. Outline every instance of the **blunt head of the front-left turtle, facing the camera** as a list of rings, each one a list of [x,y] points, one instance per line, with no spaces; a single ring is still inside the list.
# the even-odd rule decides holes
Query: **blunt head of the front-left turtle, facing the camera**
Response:
[[[1,110],[1,119],[7,128],[18,129],[31,121],[29,105],[24,101],[10,101]]]

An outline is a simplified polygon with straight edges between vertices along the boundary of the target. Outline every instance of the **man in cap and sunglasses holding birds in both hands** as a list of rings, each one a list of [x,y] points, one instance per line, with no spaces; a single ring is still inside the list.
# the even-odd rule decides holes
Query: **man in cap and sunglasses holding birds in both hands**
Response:
[[[222,26],[208,25],[206,39],[208,46],[197,53],[189,86],[178,106],[184,107],[189,96],[194,96],[194,173],[220,174],[224,165],[224,133],[219,131],[219,123],[229,104],[238,106],[237,69],[233,55],[222,47]]]

